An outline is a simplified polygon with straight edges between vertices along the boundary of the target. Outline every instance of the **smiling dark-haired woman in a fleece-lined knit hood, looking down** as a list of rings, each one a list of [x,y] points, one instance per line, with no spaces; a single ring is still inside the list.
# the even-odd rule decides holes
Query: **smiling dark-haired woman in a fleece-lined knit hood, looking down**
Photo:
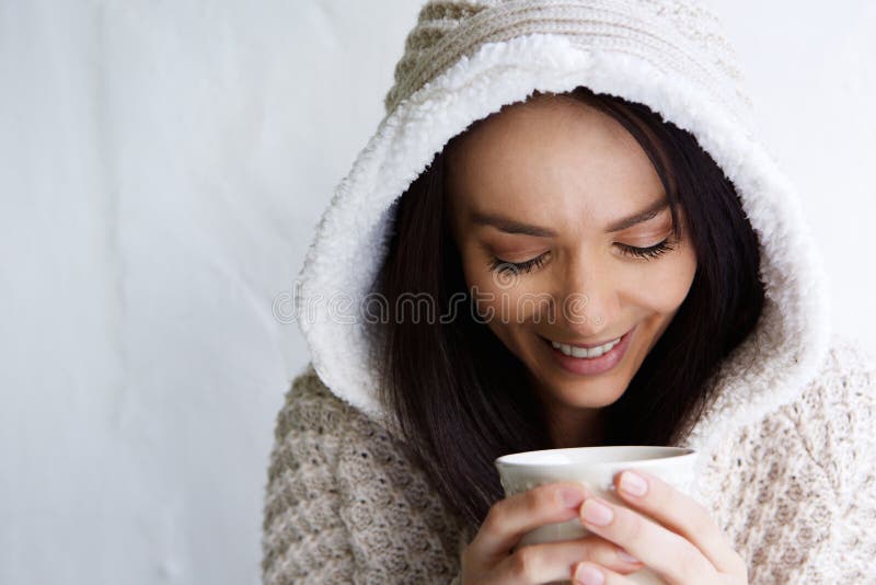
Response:
[[[873,360],[829,333],[714,16],[433,1],[385,105],[301,274],[265,583],[871,576]],[[506,498],[493,467],[631,444],[698,449],[696,493]],[[576,516],[591,536],[512,552]]]

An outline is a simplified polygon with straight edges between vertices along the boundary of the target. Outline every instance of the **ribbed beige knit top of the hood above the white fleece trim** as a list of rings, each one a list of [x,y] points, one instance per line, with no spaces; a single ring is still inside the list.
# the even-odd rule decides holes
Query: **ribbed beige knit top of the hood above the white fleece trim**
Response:
[[[695,81],[739,121],[751,100],[716,15],[690,0],[438,0],[427,3],[405,39],[387,112],[486,43],[552,34],[589,49],[642,58]],[[696,58],[692,58],[695,56]]]

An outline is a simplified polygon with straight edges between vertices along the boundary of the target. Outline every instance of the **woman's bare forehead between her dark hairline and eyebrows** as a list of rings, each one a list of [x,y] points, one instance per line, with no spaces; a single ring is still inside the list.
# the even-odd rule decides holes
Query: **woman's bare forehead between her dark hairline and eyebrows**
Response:
[[[623,125],[567,96],[506,106],[480,121],[449,150],[447,181],[454,206],[475,211],[549,205],[615,217],[662,193]]]

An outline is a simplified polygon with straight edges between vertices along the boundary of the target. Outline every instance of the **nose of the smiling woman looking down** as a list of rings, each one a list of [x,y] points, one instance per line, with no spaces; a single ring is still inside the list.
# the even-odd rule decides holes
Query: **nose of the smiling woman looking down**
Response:
[[[599,340],[615,332],[620,301],[610,269],[578,254],[569,261],[560,290],[557,324],[570,334]]]

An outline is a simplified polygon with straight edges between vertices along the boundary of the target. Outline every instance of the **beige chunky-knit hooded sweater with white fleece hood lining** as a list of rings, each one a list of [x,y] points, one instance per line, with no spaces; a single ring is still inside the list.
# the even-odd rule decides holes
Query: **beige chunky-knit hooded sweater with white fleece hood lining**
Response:
[[[758,137],[718,20],[695,0],[430,0],[337,185],[296,287],[311,367],[276,427],[264,581],[447,583],[477,527],[443,509],[387,429],[358,308],[393,204],[447,141],[533,90],[586,85],[690,131],[733,182],[760,244],[753,331],[715,372],[680,447],[751,583],[874,582],[874,359],[831,336],[827,280],[794,185]]]

